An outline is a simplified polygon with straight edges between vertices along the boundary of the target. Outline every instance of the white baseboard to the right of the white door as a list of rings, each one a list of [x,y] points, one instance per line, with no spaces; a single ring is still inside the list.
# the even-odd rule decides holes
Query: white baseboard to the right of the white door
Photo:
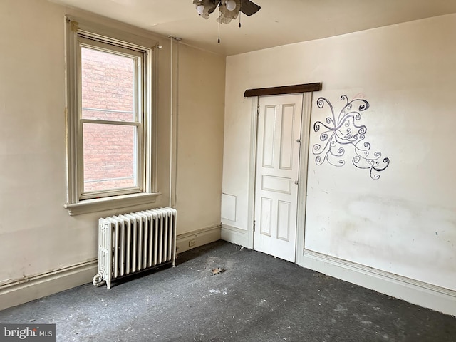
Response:
[[[456,291],[305,249],[300,266],[456,316]]]

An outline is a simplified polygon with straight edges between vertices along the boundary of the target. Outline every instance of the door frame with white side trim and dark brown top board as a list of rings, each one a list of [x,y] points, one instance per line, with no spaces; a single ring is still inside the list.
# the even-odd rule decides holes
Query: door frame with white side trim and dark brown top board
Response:
[[[304,255],[304,240],[306,235],[306,189],[307,167],[309,164],[309,136],[311,128],[311,105],[314,91],[320,91],[321,83],[309,83],[296,86],[274,88],[259,88],[246,90],[244,96],[252,97],[252,115],[250,132],[250,158],[249,158],[249,199],[247,217],[247,248],[254,248],[254,209],[255,209],[255,181],[257,175],[257,137],[258,137],[258,110],[259,97],[268,95],[290,95],[303,93],[301,113],[301,149],[299,154],[299,184],[298,208],[296,213],[296,246],[295,263],[302,264]]]

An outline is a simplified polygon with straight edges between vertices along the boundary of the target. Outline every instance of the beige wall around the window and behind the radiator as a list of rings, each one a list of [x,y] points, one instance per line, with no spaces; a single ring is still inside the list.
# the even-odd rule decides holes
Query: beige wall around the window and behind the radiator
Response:
[[[44,0],[0,2],[0,297],[1,307],[89,281],[78,265],[97,257],[97,220],[115,213],[162,207],[169,203],[170,180],[170,41],[156,36],[158,53],[157,202],[143,207],[82,214],[63,209],[66,202],[64,15],[78,14]],[[102,24],[104,19],[96,19]],[[131,33],[150,34],[117,24]],[[153,36],[152,36],[153,37]],[[180,51],[177,140],[177,234],[219,223],[221,192],[224,58],[185,47]],[[191,61],[188,62],[188,61]],[[199,78],[210,99],[192,104],[187,85],[195,70],[208,68],[216,78]],[[217,70],[215,70],[217,69]],[[190,91],[187,91],[190,90]],[[210,142],[210,143],[209,143]],[[194,148],[190,148],[194,147]],[[215,170],[215,172],[212,172]],[[190,177],[188,175],[193,175]],[[207,209],[197,205],[207,204]],[[204,214],[202,214],[204,212]],[[15,281],[76,265],[65,285],[49,281],[46,291],[24,298]],[[95,273],[92,274],[92,276]],[[56,275],[58,278],[58,274]],[[24,286],[24,284],[20,285]],[[59,287],[60,286],[60,287]],[[15,298],[16,297],[16,298]]]

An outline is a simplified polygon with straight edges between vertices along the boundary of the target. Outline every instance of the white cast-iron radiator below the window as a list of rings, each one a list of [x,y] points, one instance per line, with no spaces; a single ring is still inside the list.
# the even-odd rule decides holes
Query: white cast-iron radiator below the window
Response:
[[[172,208],[98,219],[98,274],[93,285],[176,260],[176,215]]]

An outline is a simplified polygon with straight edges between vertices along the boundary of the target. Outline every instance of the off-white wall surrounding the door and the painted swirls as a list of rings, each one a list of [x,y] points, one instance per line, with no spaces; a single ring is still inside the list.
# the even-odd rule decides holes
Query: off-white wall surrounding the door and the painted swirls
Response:
[[[371,104],[361,120],[366,141],[391,162],[372,180],[349,152],[343,167],[318,166],[310,152],[306,249],[456,290],[455,39],[452,14],[229,56],[223,192],[237,197],[237,219],[222,224],[236,236],[248,227],[252,99],[244,90],[321,81],[311,124],[330,113],[316,106],[319,96],[340,110],[341,95],[361,93]],[[310,146],[318,142],[311,131]]]

